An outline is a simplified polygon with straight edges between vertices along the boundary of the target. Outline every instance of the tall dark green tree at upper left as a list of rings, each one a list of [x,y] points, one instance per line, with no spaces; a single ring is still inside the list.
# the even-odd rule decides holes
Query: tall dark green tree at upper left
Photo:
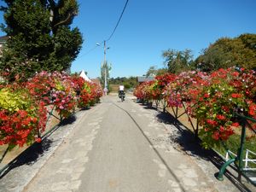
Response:
[[[4,0],[2,7],[9,39],[3,49],[1,72],[9,80],[20,74],[26,80],[40,71],[62,71],[71,67],[83,43],[79,29],[71,29],[78,14],[76,0]]]

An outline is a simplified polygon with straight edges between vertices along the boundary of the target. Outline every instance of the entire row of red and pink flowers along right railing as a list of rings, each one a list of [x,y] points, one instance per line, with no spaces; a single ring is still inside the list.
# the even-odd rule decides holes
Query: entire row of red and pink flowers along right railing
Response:
[[[160,90],[161,77],[143,83],[134,91],[142,100],[164,98],[169,107],[183,107],[186,113],[198,120],[199,135],[205,148],[219,145],[235,134],[239,121],[233,117],[234,110],[246,116],[256,117],[256,75],[253,71],[236,71],[235,68],[219,69],[211,74],[201,72],[169,74],[167,83]],[[255,129],[256,126],[253,125]]]

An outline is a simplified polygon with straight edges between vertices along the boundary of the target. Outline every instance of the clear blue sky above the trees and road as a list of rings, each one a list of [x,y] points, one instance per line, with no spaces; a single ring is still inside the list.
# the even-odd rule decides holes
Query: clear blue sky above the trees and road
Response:
[[[90,78],[100,75],[103,44],[90,49],[109,38],[125,2],[79,0],[73,26],[83,33],[84,44],[72,72],[84,69]],[[130,0],[107,42],[110,76],[139,76],[151,66],[164,67],[161,54],[166,49],[192,49],[196,57],[218,38],[256,33],[255,9],[255,0]]]

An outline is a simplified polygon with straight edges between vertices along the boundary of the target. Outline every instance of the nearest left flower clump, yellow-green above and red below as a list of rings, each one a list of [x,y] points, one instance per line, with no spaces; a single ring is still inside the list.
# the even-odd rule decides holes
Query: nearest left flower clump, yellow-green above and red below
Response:
[[[39,132],[46,125],[44,102],[33,99],[28,90],[9,85],[0,90],[0,145],[22,147],[40,142]]]

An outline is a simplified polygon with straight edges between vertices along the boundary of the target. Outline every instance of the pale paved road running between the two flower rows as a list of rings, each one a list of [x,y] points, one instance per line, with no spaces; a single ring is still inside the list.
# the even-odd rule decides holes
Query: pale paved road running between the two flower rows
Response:
[[[159,114],[131,97],[103,97],[80,114],[23,191],[239,191],[228,179],[218,182],[209,162],[173,148],[170,135],[177,128]]]

